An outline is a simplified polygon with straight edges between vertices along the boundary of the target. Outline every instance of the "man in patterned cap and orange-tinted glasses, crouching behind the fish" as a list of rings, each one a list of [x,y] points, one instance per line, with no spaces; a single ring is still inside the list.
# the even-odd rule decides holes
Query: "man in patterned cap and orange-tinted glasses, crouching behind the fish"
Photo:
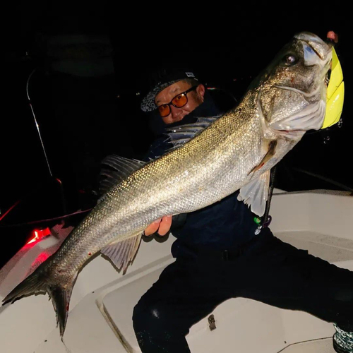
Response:
[[[220,114],[190,71],[157,77],[141,107],[157,109],[159,121],[168,126]],[[167,148],[165,136],[159,138],[148,157],[162,155]],[[257,234],[255,215],[237,201],[237,195],[173,221],[163,217],[145,229],[145,234],[162,235],[172,225],[177,241],[172,246],[176,261],[164,269],[133,312],[142,352],[190,352],[185,335],[194,323],[222,301],[246,297],[337,323],[335,349],[352,353],[353,336],[352,342],[345,336],[347,345],[340,338],[353,331],[353,273],[283,243],[268,228]]]

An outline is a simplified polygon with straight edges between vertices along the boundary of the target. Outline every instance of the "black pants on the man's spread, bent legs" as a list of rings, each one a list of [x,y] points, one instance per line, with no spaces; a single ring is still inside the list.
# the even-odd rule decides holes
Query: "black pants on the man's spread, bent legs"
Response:
[[[133,311],[140,349],[190,352],[189,328],[236,297],[306,311],[353,330],[353,272],[262,232],[228,258],[200,253],[167,266]]]

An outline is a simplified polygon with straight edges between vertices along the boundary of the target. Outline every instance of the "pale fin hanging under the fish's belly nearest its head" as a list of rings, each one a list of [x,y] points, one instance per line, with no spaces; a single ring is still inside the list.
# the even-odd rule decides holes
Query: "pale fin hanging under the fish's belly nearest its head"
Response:
[[[265,213],[270,186],[270,173],[270,170],[268,170],[261,174],[258,179],[250,181],[239,191],[238,200],[244,201],[246,205],[251,206],[251,212],[259,217],[262,217]]]

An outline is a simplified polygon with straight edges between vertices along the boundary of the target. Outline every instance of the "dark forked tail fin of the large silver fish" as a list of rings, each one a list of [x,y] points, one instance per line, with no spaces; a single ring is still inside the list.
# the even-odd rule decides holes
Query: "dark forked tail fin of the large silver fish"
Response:
[[[52,299],[56,313],[56,324],[59,325],[60,335],[62,337],[66,328],[71,292],[77,275],[69,280],[66,278],[64,286],[59,284],[59,280],[53,281],[52,278],[49,280],[49,277],[47,272],[42,270],[40,266],[4,298],[3,305],[9,302],[13,303],[31,294],[39,292],[48,293],[50,299]]]

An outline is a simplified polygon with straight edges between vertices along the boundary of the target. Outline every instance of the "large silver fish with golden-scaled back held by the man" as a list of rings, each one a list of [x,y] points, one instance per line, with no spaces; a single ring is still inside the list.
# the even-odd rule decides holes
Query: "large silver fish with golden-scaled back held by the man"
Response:
[[[91,213],[4,303],[49,293],[62,337],[78,271],[98,251],[126,270],[151,222],[204,208],[239,189],[239,198],[263,215],[270,169],[305,131],[323,124],[331,56],[330,45],[316,35],[295,35],[238,107],[172,131],[176,148],[147,164],[108,161],[128,175],[115,184],[107,179],[112,187]]]

